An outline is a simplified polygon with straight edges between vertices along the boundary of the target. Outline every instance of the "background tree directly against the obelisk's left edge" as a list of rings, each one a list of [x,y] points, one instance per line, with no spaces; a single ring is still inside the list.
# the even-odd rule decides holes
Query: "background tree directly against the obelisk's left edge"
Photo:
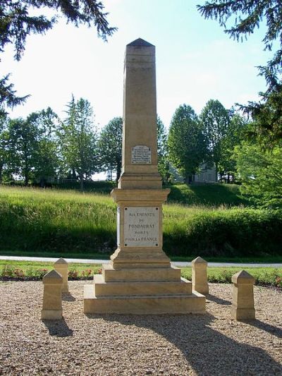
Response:
[[[99,137],[99,160],[102,171],[116,171],[116,181],[121,176],[123,119],[116,117],[102,129]]]

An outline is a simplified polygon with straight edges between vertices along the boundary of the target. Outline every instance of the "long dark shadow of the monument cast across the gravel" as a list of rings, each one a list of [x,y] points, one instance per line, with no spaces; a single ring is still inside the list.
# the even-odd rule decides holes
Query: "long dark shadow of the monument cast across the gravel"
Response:
[[[97,317],[97,315],[87,316],[93,319]],[[216,320],[213,315],[99,315],[99,317],[110,322],[119,322],[121,325],[130,325],[133,330],[134,327],[140,327],[163,336],[183,353],[190,365],[187,371],[192,368],[197,375],[282,375],[282,365],[264,350],[235,341],[213,329],[211,325]],[[231,330],[235,334],[233,323],[226,320],[228,335]],[[245,326],[244,323],[240,326],[241,335],[243,331],[246,331],[245,338],[248,338],[250,327]],[[157,344],[153,343],[152,346]],[[130,348],[130,340],[128,348]],[[166,359],[164,363],[170,361],[165,350],[162,353],[161,348],[156,348],[156,351],[160,357],[164,356]],[[151,361],[153,363],[154,359]]]

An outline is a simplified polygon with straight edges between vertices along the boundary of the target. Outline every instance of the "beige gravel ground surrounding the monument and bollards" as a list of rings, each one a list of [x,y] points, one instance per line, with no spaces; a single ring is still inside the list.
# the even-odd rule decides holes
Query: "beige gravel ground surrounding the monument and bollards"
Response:
[[[282,375],[282,292],[255,287],[257,320],[231,320],[231,285],[207,315],[84,315],[69,282],[61,322],[40,320],[42,282],[0,283],[0,375]]]

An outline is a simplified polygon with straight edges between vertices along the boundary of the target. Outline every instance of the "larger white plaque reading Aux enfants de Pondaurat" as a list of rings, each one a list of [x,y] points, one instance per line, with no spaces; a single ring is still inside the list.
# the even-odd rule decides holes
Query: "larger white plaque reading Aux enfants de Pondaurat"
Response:
[[[159,245],[159,207],[124,208],[125,247]]]

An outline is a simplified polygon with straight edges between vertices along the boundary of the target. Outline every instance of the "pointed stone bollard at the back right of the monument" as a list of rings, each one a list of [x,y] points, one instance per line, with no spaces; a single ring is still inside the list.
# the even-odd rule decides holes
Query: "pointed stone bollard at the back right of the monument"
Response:
[[[202,257],[192,260],[192,289],[203,295],[209,293],[209,285],[207,283],[207,261]]]

